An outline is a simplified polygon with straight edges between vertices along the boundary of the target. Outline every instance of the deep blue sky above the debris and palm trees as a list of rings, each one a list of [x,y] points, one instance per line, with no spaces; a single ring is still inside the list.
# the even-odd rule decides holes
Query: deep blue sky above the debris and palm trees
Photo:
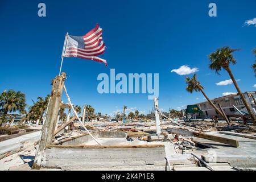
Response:
[[[46,17],[38,16],[38,3],[46,3]],[[208,5],[217,5],[217,17],[208,16]],[[234,85],[216,85],[229,80],[228,73],[215,75],[207,55],[215,49],[241,48],[234,53],[232,71],[242,91],[255,90],[250,68],[255,57],[256,1],[1,1],[0,91],[20,90],[28,104],[51,92],[51,79],[59,73],[66,32],[82,36],[99,23],[108,47],[102,63],[64,58],[68,93],[78,105],[90,104],[102,114],[127,105],[148,113],[147,94],[99,94],[99,73],[159,73],[159,107],[168,110],[204,101],[201,93],[185,91],[184,75],[173,69],[182,65],[196,72],[210,98],[236,92]],[[192,76],[188,75],[188,76]],[[65,101],[65,96],[63,97]]]

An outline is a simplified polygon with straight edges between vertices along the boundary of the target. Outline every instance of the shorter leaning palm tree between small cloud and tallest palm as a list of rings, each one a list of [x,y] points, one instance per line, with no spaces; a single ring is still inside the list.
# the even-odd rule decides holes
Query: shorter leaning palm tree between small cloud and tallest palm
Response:
[[[213,108],[218,112],[218,114],[220,114],[222,118],[225,119],[225,116],[221,113],[221,111],[217,108],[217,106],[213,104],[213,102],[209,99],[209,97],[207,97],[207,94],[205,94],[204,87],[200,84],[199,81],[197,81],[196,74],[194,74],[192,78],[185,77],[185,81],[187,84],[186,90],[189,93],[193,93],[193,91],[195,92],[200,91],[201,93],[203,93],[204,97],[207,99],[210,105],[212,105]],[[226,122],[228,123],[228,125],[230,125],[229,121],[226,121]]]

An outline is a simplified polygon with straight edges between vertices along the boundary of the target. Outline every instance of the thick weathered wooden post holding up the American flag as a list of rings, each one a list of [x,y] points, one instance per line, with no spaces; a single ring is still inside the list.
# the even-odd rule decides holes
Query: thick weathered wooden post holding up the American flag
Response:
[[[65,78],[66,73],[61,73],[60,76],[56,76],[52,81],[51,100],[49,102],[49,107],[46,113],[46,121],[44,122],[41,131],[39,146],[36,150],[35,160],[32,167],[33,169],[40,169],[40,166],[42,166],[42,160],[44,158],[44,151],[46,146],[52,143],[53,133],[60,109],[61,95],[63,92]]]

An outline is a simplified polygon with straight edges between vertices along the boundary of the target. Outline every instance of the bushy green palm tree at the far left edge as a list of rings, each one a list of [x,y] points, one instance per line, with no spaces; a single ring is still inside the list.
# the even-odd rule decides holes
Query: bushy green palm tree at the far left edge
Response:
[[[6,115],[8,112],[12,113],[19,111],[21,114],[25,114],[26,110],[26,96],[24,93],[14,90],[5,90],[0,96],[0,113],[2,113],[2,118],[0,121],[0,126],[3,122],[6,122]]]

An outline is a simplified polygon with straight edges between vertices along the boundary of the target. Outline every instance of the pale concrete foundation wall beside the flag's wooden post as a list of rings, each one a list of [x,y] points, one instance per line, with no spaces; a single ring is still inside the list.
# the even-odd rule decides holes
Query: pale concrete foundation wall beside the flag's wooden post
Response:
[[[109,141],[115,142],[117,139],[125,140],[127,137],[126,133],[119,131],[93,133],[93,136],[99,140],[109,138]],[[163,144],[83,145],[92,140],[89,135],[81,135],[48,146],[43,167],[76,170],[167,169]]]

